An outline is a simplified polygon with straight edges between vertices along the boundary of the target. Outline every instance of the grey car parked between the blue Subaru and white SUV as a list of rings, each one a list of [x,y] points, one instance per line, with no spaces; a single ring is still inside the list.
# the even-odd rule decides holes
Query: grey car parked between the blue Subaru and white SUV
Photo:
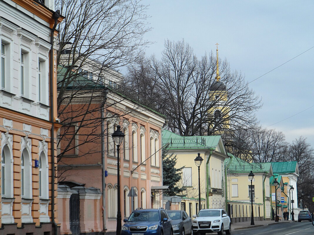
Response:
[[[171,218],[174,235],[193,234],[192,220],[185,211],[166,211]]]

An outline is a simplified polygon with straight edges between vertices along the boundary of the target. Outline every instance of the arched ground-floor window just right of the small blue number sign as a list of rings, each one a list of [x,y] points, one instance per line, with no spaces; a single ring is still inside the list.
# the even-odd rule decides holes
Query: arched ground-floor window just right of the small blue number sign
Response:
[[[39,197],[48,199],[48,164],[46,155],[39,155]]]

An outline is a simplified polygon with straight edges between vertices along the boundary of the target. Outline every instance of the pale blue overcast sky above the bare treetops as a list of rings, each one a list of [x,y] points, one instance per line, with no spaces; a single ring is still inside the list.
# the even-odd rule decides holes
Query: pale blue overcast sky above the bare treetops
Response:
[[[155,41],[146,55],[160,57],[164,40],[185,39],[200,58],[214,51],[252,81],[314,46],[314,1],[143,0],[149,4],[145,35]],[[253,81],[262,97],[257,118],[292,142],[300,135],[314,147],[314,48]],[[309,108],[311,107],[311,108]],[[305,109],[308,110],[295,115]],[[285,121],[277,123],[285,118]],[[270,126],[272,125],[272,126]]]

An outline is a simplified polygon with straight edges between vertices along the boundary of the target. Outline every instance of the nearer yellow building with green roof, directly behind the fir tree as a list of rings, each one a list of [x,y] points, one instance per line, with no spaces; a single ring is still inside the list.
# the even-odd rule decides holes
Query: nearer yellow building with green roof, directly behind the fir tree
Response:
[[[194,159],[200,153],[201,208],[225,208],[224,160],[228,158],[220,136],[184,137],[162,131],[163,145],[169,144],[168,154],[177,156],[176,168],[184,167],[178,186],[185,187],[181,208],[192,216],[198,212],[198,167]]]

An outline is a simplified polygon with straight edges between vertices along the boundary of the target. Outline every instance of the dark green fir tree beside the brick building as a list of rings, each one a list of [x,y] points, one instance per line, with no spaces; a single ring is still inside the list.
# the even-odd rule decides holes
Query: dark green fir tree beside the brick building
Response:
[[[175,168],[177,157],[173,156],[173,153],[168,155],[168,146],[165,146],[162,149],[162,173],[163,173],[163,184],[169,186],[165,194],[167,196],[176,196],[180,195],[184,191],[184,187],[178,187],[177,183],[182,178],[182,169],[184,168]]]

